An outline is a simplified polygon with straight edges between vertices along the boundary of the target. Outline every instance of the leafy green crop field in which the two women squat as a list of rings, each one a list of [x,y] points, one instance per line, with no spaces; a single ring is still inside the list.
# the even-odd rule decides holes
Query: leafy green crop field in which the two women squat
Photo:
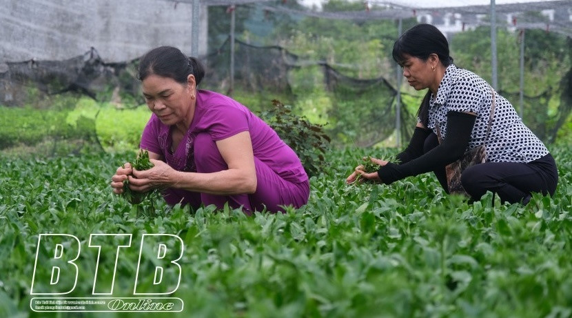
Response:
[[[346,186],[359,156],[336,150],[331,168],[311,179],[307,206],[252,217],[212,207],[190,212],[161,199],[130,206],[108,182],[131,153],[0,158],[0,317],[571,317],[572,152],[551,150],[558,193],[526,207],[502,205],[490,193],[468,204],[445,195],[432,175]],[[183,311],[30,310],[45,233],[81,241],[78,283],[66,297],[92,296],[90,234],[132,234],[132,246],[119,253],[114,297],[133,297],[144,233],[181,237],[181,284],[169,296],[183,299]],[[113,265],[101,259],[102,277],[112,277]]]

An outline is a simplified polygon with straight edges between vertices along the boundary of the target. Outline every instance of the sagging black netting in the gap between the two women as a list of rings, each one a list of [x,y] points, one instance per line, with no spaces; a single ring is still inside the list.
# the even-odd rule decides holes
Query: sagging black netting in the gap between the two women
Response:
[[[229,52],[226,41],[206,57],[207,74],[201,84],[203,87],[231,93]],[[329,119],[334,119],[326,127],[334,142],[371,146],[394,133],[396,89],[387,79],[348,77],[328,63],[304,60],[280,46],[259,47],[236,41],[235,52],[235,90],[255,94],[264,92],[263,98],[267,101],[285,96],[288,102],[295,103],[296,97],[304,97],[316,86],[325,88],[332,103],[328,111]],[[289,75],[289,72],[302,75]],[[296,83],[291,85],[291,81]],[[402,133],[407,139],[415,118],[405,105],[401,113]]]

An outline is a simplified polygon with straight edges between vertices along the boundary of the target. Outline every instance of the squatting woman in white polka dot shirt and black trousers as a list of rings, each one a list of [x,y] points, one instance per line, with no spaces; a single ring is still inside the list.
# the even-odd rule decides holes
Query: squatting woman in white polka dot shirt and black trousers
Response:
[[[486,162],[461,175],[462,186],[472,199],[490,190],[504,202],[527,204],[531,192],[554,194],[558,170],[546,146],[524,126],[507,99],[478,75],[453,64],[449,43],[437,28],[419,24],[407,30],[394,44],[393,57],[410,86],[427,89],[417,126],[409,146],[397,155],[399,163],[372,159],[381,168],[366,173],[358,166],[348,183],[362,175],[389,184],[433,171],[448,192],[445,166],[484,143]],[[487,135],[493,101],[496,106]]]

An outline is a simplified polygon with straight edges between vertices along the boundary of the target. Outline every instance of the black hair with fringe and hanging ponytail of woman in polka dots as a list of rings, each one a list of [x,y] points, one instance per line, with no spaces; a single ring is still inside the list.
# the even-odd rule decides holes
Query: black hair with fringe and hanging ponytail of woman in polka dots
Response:
[[[402,65],[405,62],[405,55],[427,61],[429,55],[433,53],[437,54],[445,68],[453,63],[453,58],[449,56],[449,42],[445,35],[435,26],[422,23],[413,26],[399,37],[394,43],[392,54],[394,60]],[[417,111],[417,116],[425,126],[429,120],[429,99],[431,99],[431,91],[427,90]]]

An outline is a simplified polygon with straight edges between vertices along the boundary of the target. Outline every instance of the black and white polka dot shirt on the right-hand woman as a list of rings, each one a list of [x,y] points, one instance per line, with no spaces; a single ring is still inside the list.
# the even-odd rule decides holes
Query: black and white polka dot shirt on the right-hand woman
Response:
[[[544,143],[524,126],[511,103],[497,92],[493,123],[489,137],[485,140],[491,115],[491,97],[491,87],[484,79],[451,64],[439,85],[437,96],[431,96],[428,128],[437,133],[438,123],[442,138],[445,139],[447,112],[473,112],[477,119],[467,149],[484,143],[487,147],[487,161],[526,163],[547,155],[549,151]]]

